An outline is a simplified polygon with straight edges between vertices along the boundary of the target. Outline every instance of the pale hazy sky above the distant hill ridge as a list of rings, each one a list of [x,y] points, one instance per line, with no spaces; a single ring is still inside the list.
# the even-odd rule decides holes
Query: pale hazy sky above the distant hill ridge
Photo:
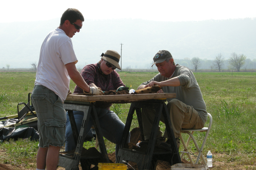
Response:
[[[155,21],[256,17],[254,0],[6,0],[0,23],[60,18],[77,8],[85,19],[140,18]]]

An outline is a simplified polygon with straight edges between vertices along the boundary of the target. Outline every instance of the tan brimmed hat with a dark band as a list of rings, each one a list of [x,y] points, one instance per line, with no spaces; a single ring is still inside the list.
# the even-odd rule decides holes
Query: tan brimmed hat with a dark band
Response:
[[[121,70],[120,65],[118,64],[119,59],[120,59],[120,55],[118,54],[118,52],[114,51],[114,50],[107,50],[104,53],[102,53],[102,59],[104,59],[107,62],[110,62],[112,65],[116,66],[116,68],[118,68],[119,70]]]

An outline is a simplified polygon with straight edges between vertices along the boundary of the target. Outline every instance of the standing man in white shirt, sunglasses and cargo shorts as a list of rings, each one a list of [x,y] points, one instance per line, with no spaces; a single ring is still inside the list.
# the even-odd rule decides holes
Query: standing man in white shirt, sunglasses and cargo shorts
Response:
[[[72,38],[82,28],[84,17],[68,8],[61,23],[45,38],[40,51],[32,102],[38,116],[39,149],[37,170],[56,170],[60,148],[65,142],[66,112],[63,102],[67,97],[70,78],[85,94],[102,95],[100,88],[90,87],[76,69],[78,62]]]

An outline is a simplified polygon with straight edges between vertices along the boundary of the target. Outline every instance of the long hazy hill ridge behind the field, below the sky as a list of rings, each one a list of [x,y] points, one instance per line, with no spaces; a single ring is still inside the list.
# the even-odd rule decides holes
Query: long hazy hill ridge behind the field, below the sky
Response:
[[[44,37],[58,27],[59,20],[0,23],[0,68],[6,64],[10,68],[32,67],[31,63],[38,62]],[[233,52],[256,59],[255,30],[255,18],[198,22],[85,20],[72,41],[78,68],[98,62],[108,49],[121,54],[122,43],[122,68],[139,69],[151,68],[154,54],[161,49],[187,63],[193,57],[213,60],[219,53],[228,59]]]

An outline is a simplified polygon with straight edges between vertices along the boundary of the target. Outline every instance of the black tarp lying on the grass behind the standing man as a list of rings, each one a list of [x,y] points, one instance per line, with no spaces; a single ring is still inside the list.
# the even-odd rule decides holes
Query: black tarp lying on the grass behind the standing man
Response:
[[[3,127],[0,130],[0,141],[3,142],[6,139],[13,138],[17,140],[19,138],[26,139],[30,138],[30,140],[38,140],[38,131],[36,131],[33,127],[20,127],[15,129],[15,127]]]

